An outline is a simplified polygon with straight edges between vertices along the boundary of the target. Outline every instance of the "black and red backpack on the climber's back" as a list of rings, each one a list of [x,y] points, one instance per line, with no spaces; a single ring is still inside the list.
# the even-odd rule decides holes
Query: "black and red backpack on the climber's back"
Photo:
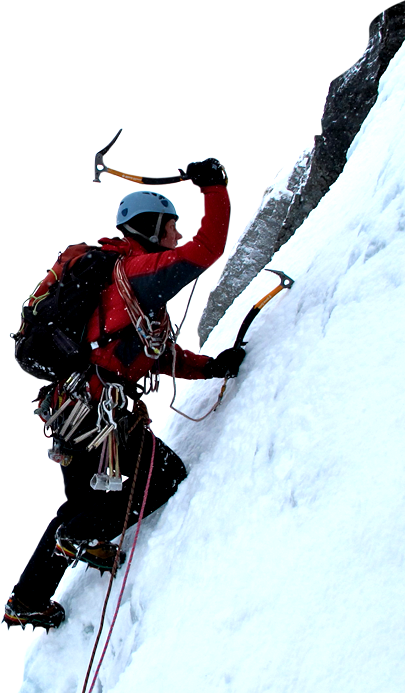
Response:
[[[44,298],[37,296],[22,305],[20,327],[10,334],[17,364],[37,380],[56,382],[88,365],[91,348],[84,340],[86,327],[102,290],[112,281],[119,257],[87,243],[71,247],[78,248],[79,257],[63,264],[60,279]],[[63,253],[60,258],[63,263]]]

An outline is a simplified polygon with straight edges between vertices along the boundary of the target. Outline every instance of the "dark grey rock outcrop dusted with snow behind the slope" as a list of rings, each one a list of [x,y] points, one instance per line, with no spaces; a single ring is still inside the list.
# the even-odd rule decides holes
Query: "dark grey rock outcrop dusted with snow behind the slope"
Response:
[[[405,0],[400,0],[373,19],[363,55],[330,83],[320,134],[264,191],[209,294],[198,324],[200,344],[341,174],[347,150],[377,99],[379,80],[404,40]]]

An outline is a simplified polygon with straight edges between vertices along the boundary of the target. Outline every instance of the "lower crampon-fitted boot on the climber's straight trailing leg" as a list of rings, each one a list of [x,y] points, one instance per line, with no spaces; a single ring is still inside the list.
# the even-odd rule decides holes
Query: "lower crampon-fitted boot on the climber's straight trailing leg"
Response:
[[[5,623],[8,631],[13,626],[19,626],[21,630],[31,626],[32,632],[36,628],[45,628],[48,632],[50,628],[59,628],[64,620],[65,611],[58,602],[50,601],[45,609],[35,610],[24,604],[15,594],[10,594],[4,604],[1,623]]]

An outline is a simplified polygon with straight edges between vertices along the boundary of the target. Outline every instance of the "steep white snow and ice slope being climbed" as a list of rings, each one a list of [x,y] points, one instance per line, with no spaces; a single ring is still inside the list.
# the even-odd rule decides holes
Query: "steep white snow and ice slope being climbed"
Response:
[[[404,85],[402,46],[344,171],[269,265],[295,284],[253,322],[221,407],[164,422],[189,476],[142,525],[96,693],[405,690]],[[277,282],[260,272],[203,353]],[[199,416],[221,381],[177,385]],[[67,570],[67,620],[27,648],[20,693],[81,693],[108,580]]]

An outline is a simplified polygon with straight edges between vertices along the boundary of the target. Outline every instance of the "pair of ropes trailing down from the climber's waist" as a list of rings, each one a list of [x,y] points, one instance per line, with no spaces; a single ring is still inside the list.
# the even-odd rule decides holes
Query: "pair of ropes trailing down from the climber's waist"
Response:
[[[150,418],[149,418],[148,411],[147,411],[147,409],[146,409],[146,405],[145,405],[144,402],[142,402],[142,401],[138,401],[138,402],[136,403],[136,405],[137,405],[137,407],[138,407],[138,418],[137,418],[136,422],[133,424],[133,426],[132,426],[132,428],[131,428],[131,431],[134,430],[134,428],[135,428],[140,422],[142,422],[142,426],[143,426],[143,429],[142,429],[142,439],[141,439],[141,444],[140,444],[140,448],[139,448],[138,458],[137,458],[136,465],[135,465],[134,476],[133,476],[133,479],[132,479],[131,492],[130,492],[130,495],[129,495],[128,506],[127,506],[127,512],[126,512],[126,516],[125,516],[125,520],[124,520],[124,526],[123,526],[123,528],[122,528],[122,533],[121,533],[120,541],[119,541],[119,544],[118,544],[118,546],[117,546],[117,553],[116,553],[114,565],[113,565],[113,568],[112,568],[112,571],[111,571],[110,582],[109,582],[109,585],[108,585],[107,594],[106,594],[106,597],[105,597],[105,600],[104,600],[103,610],[102,610],[102,614],[101,614],[100,626],[99,626],[99,630],[98,630],[98,633],[97,633],[96,641],[95,641],[95,643],[94,643],[93,651],[92,651],[92,654],[91,654],[91,657],[90,657],[90,662],[89,662],[89,666],[88,666],[88,669],[87,669],[86,678],[85,678],[85,681],[84,681],[82,693],[86,693],[86,688],[87,688],[87,684],[88,684],[88,681],[89,681],[89,678],[90,678],[91,669],[92,669],[92,666],[93,666],[93,663],[94,663],[94,659],[95,659],[95,656],[96,656],[97,647],[98,647],[98,644],[99,644],[99,642],[100,642],[101,633],[102,633],[103,626],[104,626],[104,620],[105,620],[105,615],[106,615],[106,611],[107,611],[108,601],[109,601],[110,594],[111,594],[111,589],[112,589],[112,585],[113,585],[113,580],[114,580],[114,578],[115,578],[115,575],[116,575],[116,572],[117,572],[117,569],[118,569],[119,556],[120,556],[120,553],[121,553],[121,548],[122,548],[122,545],[123,545],[123,542],[124,542],[124,538],[125,538],[125,534],[126,534],[127,527],[128,527],[128,521],[129,521],[129,516],[130,516],[130,513],[131,513],[131,507],[132,507],[132,501],[133,501],[134,492],[135,492],[136,481],[137,481],[137,478],[138,478],[139,466],[140,466],[140,462],[141,462],[141,458],[142,458],[142,453],[143,453],[143,446],[144,446],[144,441],[145,441],[145,431],[148,431],[148,432],[151,434],[151,436],[152,436],[152,453],[151,453],[151,458],[150,458],[150,463],[149,463],[148,478],[147,478],[146,485],[145,485],[145,490],[144,490],[144,493],[143,493],[142,505],[141,505],[141,509],[140,509],[140,512],[139,512],[139,518],[138,518],[138,523],[137,523],[137,527],[136,527],[136,532],[135,532],[134,540],[133,540],[133,542],[132,542],[132,548],[131,548],[131,552],[130,552],[130,555],[129,555],[129,558],[128,558],[127,567],[126,567],[126,571],[125,571],[125,574],[124,574],[124,578],[123,578],[123,582],[122,582],[120,594],[119,594],[119,596],[118,596],[118,601],[117,601],[117,605],[116,605],[116,608],[115,608],[114,616],[113,616],[113,619],[112,619],[112,622],[111,622],[111,626],[110,626],[109,631],[108,631],[108,635],[107,635],[107,638],[106,638],[106,641],[105,641],[105,644],[104,644],[104,648],[103,648],[103,651],[102,651],[102,654],[101,654],[99,663],[98,663],[98,665],[97,665],[97,667],[96,667],[96,670],[95,670],[95,673],[94,673],[94,676],[93,676],[93,681],[92,681],[92,684],[91,684],[91,686],[90,686],[89,693],[92,693],[92,691],[93,691],[93,689],[94,689],[94,686],[95,686],[95,684],[96,684],[96,681],[97,681],[97,678],[98,678],[98,674],[99,674],[99,672],[100,672],[100,668],[101,668],[101,665],[102,665],[102,663],[103,663],[105,654],[106,654],[106,652],[107,652],[107,648],[108,648],[108,645],[109,645],[109,642],[110,642],[110,639],[111,639],[111,635],[112,635],[112,632],[113,632],[113,629],[114,629],[114,626],[115,626],[115,622],[116,622],[116,620],[117,620],[118,612],[119,612],[119,609],[120,609],[120,606],[121,606],[121,602],[122,602],[122,597],[123,597],[123,595],[124,595],[124,590],[125,590],[126,583],[127,583],[127,580],[128,580],[129,571],[130,571],[130,569],[131,569],[131,564],[132,564],[132,560],[133,560],[133,557],[134,557],[135,548],[136,548],[136,544],[137,544],[138,537],[139,537],[139,532],[140,532],[140,529],[141,529],[141,524],[142,524],[142,520],[143,520],[143,515],[144,515],[144,512],[145,512],[146,501],[147,501],[147,499],[148,499],[148,494],[149,494],[150,481],[151,481],[151,478],[152,478],[153,465],[154,465],[154,460],[155,460],[156,438],[155,438],[155,435],[154,435],[153,431],[152,431],[151,428],[150,428],[151,420],[150,420]]]

